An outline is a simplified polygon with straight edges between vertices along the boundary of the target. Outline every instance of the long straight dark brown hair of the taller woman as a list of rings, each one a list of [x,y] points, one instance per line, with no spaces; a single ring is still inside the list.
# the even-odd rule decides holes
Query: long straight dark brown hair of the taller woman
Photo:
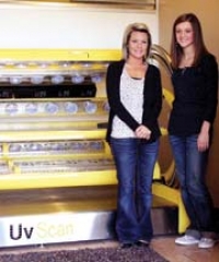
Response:
[[[183,49],[177,44],[176,34],[175,34],[176,26],[183,22],[189,22],[194,32],[195,58],[194,58],[193,66],[196,66],[199,62],[203,55],[208,53],[208,50],[204,43],[203,31],[201,31],[201,26],[198,17],[194,13],[182,14],[175,20],[173,24],[173,29],[172,29],[171,58],[172,58],[173,68],[178,67],[183,56]]]

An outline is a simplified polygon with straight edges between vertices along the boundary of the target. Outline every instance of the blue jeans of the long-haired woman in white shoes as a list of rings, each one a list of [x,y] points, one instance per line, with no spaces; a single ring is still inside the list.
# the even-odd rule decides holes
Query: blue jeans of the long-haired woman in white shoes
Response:
[[[212,231],[212,201],[206,186],[208,151],[198,152],[198,135],[170,135],[182,199],[191,219],[188,230]]]

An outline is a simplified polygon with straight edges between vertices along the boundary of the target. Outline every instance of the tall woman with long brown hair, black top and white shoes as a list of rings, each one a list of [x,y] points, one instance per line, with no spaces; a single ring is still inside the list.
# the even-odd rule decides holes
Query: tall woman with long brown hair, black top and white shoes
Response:
[[[175,242],[211,248],[215,227],[206,169],[218,104],[218,64],[204,44],[195,14],[185,13],[175,20],[171,57],[175,99],[169,133],[182,199],[191,221],[185,235]]]

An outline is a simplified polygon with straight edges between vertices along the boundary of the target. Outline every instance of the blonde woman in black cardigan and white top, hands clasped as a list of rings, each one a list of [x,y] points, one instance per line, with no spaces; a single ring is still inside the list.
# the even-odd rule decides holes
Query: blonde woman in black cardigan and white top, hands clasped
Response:
[[[160,71],[148,63],[151,35],[147,25],[127,26],[123,59],[108,66],[107,141],[115,158],[118,198],[116,233],[123,248],[148,246],[153,236],[151,184],[161,134]]]

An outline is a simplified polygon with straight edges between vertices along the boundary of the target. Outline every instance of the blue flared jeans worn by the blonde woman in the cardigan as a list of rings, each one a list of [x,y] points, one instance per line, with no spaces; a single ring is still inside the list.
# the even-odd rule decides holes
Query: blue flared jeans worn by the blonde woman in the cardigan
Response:
[[[115,158],[118,198],[116,233],[120,242],[150,241],[151,186],[159,142],[143,143],[138,139],[111,139]]]

